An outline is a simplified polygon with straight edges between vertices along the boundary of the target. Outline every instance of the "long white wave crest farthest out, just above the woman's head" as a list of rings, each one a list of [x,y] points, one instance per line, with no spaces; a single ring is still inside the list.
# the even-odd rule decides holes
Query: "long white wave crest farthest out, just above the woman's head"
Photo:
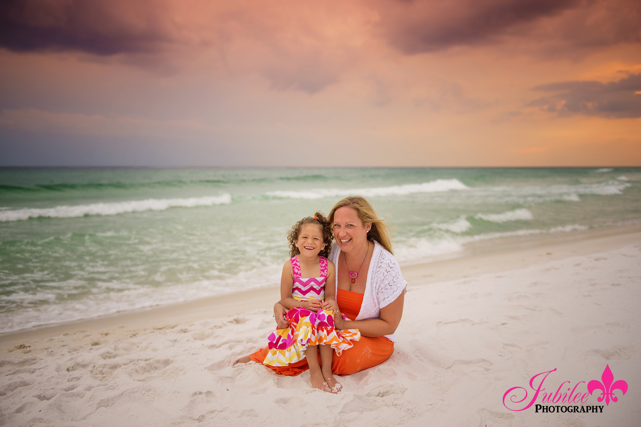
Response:
[[[267,196],[283,197],[289,199],[322,199],[323,197],[336,196],[406,196],[415,193],[437,193],[449,190],[468,190],[469,187],[459,180],[436,180],[422,184],[392,185],[392,187],[371,188],[318,188],[306,191],[271,191]]]

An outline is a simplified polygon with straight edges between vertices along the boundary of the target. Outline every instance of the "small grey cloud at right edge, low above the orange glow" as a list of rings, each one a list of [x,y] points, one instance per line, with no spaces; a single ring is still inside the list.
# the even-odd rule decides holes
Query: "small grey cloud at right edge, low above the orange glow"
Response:
[[[641,74],[633,74],[612,83],[600,81],[565,81],[534,88],[560,92],[532,101],[547,112],[559,115],[595,115],[609,118],[641,117]]]

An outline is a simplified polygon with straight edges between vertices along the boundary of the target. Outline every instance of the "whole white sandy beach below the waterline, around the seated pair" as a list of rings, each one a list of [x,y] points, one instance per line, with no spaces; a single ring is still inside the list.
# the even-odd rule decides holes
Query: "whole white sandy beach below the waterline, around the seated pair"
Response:
[[[231,366],[265,346],[272,287],[0,337],[0,425],[639,425],[638,227],[402,267],[394,354],[338,378],[338,394],[311,389],[308,373]],[[529,401],[538,373],[556,369],[556,391],[600,381],[606,365],[628,392],[601,413],[503,405],[517,386]],[[604,405],[598,393],[583,405]]]

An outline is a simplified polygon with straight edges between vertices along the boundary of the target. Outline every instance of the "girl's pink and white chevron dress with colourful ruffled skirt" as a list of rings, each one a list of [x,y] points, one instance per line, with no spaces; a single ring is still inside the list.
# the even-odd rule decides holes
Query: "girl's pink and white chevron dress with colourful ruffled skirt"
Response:
[[[292,298],[297,301],[324,299],[327,280],[328,261],[319,256],[320,277],[301,278],[301,264],[298,256],[291,259],[294,271]],[[352,341],[360,340],[358,329],[336,330],[332,310],[312,312],[303,307],[295,307],[287,312],[285,318],[289,328],[275,330],[269,335],[269,351],[264,365],[287,366],[305,357],[307,346],[328,345],[340,356],[343,350],[352,347]],[[343,315],[343,319],[347,319]]]

